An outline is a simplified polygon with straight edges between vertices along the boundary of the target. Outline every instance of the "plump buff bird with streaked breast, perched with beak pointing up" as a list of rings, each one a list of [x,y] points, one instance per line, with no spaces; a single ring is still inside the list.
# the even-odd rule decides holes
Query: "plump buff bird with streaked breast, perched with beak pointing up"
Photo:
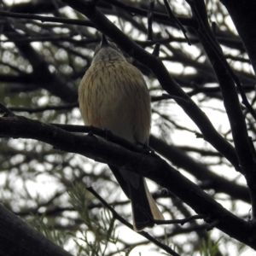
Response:
[[[147,84],[137,67],[126,61],[104,34],[79,85],[79,108],[85,125],[111,131],[131,143],[148,145],[151,103]],[[131,201],[133,230],[152,228],[154,219],[164,219],[144,177],[108,166]]]

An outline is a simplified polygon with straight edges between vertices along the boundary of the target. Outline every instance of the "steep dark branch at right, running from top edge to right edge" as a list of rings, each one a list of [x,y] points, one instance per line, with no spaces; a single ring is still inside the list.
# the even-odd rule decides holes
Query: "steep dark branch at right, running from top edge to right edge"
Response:
[[[207,20],[207,10],[204,1],[187,0],[187,2],[190,4],[196,20],[198,20],[198,36],[218,78],[224,98],[224,107],[230,120],[237,156],[249,188],[253,207],[253,218],[256,218],[256,163],[253,160],[254,148],[248,137],[247,125],[241,111],[234,78],[232,76],[233,72],[230,73],[230,67],[226,68],[228,64],[224,60],[220,46],[212,34]]]

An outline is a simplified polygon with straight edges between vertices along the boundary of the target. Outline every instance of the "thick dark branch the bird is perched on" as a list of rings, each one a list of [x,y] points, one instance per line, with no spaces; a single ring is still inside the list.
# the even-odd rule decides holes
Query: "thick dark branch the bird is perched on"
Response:
[[[0,118],[0,136],[32,138],[49,143],[67,152],[82,154],[91,159],[125,168],[148,177],[170,190],[198,214],[207,215],[208,223],[256,249],[253,223],[248,223],[227,211],[203,190],[155,154],[139,154],[92,136],[79,136],[53,125],[25,118]],[[244,234],[247,234],[245,236]]]

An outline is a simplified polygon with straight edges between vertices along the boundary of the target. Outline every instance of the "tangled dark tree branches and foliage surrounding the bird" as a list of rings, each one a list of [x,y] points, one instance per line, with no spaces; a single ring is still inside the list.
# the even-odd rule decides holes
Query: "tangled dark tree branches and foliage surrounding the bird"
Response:
[[[254,252],[254,0],[1,7],[0,255]],[[83,124],[79,83],[102,33],[147,82],[150,148]],[[106,164],[147,177],[166,221],[134,232]]]

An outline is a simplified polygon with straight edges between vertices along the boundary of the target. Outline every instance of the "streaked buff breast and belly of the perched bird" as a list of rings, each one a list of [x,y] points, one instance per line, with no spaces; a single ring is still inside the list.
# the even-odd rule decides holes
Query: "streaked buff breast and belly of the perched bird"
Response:
[[[126,61],[98,61],[79,86],[85,125],[106,128],[131,142],[146,143],[151,109],[147,85],[136,67]]]

